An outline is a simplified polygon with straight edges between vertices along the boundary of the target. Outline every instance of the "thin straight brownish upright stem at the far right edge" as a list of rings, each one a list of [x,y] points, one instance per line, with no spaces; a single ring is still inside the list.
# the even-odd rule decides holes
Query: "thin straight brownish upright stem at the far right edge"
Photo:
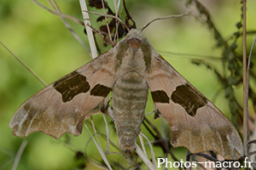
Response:
[[[247,144],[248,139],[248,107],[247,107],[247,23],[246,23],[246,0],[243,0],[242,6],[242,66],[243,66],[243,144]]]

